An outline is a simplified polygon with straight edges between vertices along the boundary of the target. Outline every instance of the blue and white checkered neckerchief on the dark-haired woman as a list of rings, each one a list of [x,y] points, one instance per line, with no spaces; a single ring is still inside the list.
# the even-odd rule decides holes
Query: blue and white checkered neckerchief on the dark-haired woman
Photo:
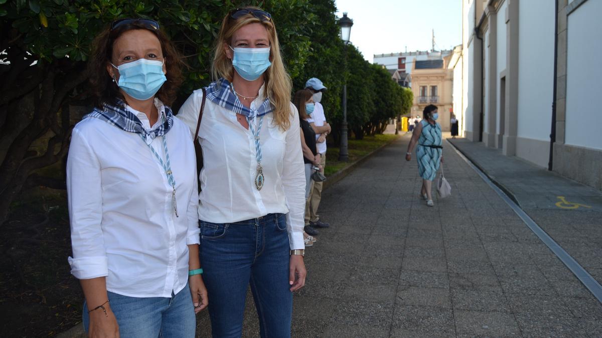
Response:
[[[146,131],[140,119],[133,112],[126,109],[125,104],[126,103],[120,99],[117,99],[117,105],[105,103],[103,109],[95,107],[94,110],[90,112],[90,114],[85,115],[84,118],[96,117],[109,124],[113,124],[113,126],[116,126],[123,131],[140,134],[147,145],[151,144],[152,140],[156,137],[163,136],[169,132],[169,129],[172,129],[173,112],[169,106],[164,106],[166,118],[163,123],[152,131]]]

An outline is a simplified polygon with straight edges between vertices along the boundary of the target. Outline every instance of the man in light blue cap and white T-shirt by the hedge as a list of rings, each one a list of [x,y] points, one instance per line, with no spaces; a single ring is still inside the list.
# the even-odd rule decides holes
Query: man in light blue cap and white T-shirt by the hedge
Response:
[[[322,168],[326,167],[326,136],[330,134],[330,124],[326,122],[326,116],[324,115],[324,107],[321,105],[322,93],[327,89],[322,81],[318,78],[311,78],[305,82],[305,88],[310,90],[313,94],[313,100],[315,104],[314,111],[311,116],[307,119],[311,127],[315,132],[315,140],[318,147],[318,153],[321,155],[320,165]],[[309,201],[305,205],[305,232],[309,235],[318,235],[318,230],[315,228],[327,228],[330,226],[328,223],[324,223],[320,220],[318,215],[318,207],[320,206],[320,200],[322,199],[322,188],[323,182],[314,182],[314,188],[309,193]]]

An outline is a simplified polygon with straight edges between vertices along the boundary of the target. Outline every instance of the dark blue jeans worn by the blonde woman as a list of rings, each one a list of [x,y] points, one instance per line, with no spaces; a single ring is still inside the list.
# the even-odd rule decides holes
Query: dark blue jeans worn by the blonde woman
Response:
[[[200,262],[213,337],[242,335],[249,283],[261,337],[291,336],[289,260],[284,214],[226,224],[200,221]]]

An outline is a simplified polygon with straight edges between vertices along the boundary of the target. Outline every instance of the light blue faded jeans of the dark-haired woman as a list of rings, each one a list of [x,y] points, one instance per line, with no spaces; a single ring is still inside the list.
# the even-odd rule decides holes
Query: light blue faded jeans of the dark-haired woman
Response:
[[[172,292],[172,298],[137,298],[113,292],[107,294],[121,337],[194,337],[196,316],[188,284],[175,295]],[[85,301],[83,320],[85,331],[88,332],[90,318]]]

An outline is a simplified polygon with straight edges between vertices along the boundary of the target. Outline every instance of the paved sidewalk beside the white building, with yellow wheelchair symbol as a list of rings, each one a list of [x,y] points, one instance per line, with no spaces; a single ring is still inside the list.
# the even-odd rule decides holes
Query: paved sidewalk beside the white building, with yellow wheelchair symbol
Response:
[[[510,194],[565,251],[602,283],[602,191],[500,149],[448,139]]]

